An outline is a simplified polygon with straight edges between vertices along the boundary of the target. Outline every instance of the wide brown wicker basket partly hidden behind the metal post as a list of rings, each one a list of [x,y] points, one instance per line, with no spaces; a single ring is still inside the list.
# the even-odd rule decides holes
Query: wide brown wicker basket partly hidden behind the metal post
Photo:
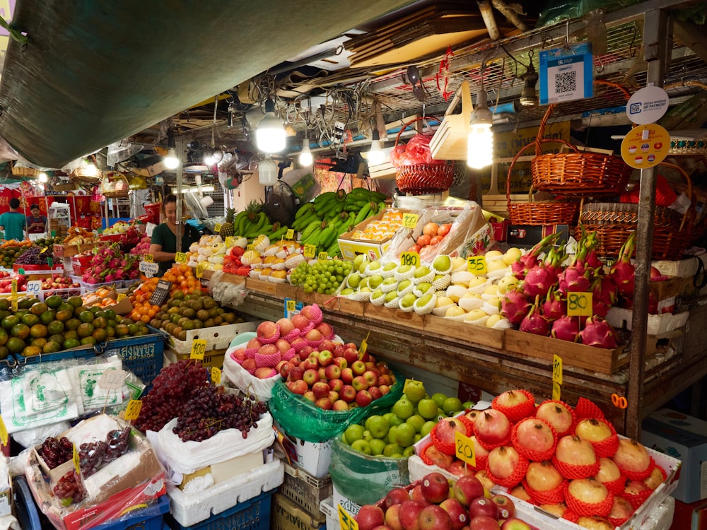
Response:
[[[653,217],[653,259],[680,259],[694,238],[692,220],[695,216],[695,201],[692,181],[687,173],[674,164],[661,163],[677,170],[687,183],[686,195],[690,207],[680,215],[677,211],[655,206]],[[582,228],[597,235],[596,251],[600,257],[616,258],[626,238],[638,228],[638,204],[634,203],[586,203],[580,213],[575,237],[581,237]]]

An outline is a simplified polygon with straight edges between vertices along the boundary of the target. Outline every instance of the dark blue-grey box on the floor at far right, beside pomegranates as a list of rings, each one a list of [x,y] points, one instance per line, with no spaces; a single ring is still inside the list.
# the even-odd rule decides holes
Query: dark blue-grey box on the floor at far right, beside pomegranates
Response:
[[[643,420],[641,443],[682,460],[672,496],[682,502],[707,498],[707,422],[662,408]]]

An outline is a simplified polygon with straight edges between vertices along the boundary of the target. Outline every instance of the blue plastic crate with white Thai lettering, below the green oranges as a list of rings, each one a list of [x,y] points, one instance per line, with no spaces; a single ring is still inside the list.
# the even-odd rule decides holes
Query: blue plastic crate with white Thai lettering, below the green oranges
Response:
[[[144,384],[149,385],[162,370],[165,335],[149,328],[153,333],[138,337],[112,338],[100,346],[105,355],[119,355],[123,366],[133,372]]]

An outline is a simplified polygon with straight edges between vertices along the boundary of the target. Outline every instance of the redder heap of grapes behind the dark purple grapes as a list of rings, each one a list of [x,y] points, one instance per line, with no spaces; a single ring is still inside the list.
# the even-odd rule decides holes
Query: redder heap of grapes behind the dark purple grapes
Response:
[[[139,430],[158,431],[179,416],[192,393],[209,386],[209,372],[199,361],[180,360],[164,367],[152,382],[152,389],[142,400]]]

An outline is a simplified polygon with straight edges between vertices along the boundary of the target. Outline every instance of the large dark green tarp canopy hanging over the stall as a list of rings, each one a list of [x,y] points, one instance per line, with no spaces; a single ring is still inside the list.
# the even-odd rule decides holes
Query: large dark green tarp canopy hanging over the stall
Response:
[[[410,0],[17,0],[0,136],[59,168]]]

